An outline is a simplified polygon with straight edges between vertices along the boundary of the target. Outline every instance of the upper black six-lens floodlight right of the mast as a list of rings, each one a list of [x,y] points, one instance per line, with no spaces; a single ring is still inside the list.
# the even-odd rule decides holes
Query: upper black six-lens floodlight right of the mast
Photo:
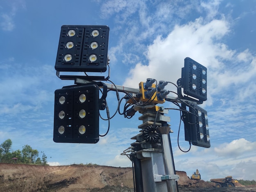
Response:
[[[207,68],[187,57],[182,68],[182,87],[184,94],[207,100]]]

